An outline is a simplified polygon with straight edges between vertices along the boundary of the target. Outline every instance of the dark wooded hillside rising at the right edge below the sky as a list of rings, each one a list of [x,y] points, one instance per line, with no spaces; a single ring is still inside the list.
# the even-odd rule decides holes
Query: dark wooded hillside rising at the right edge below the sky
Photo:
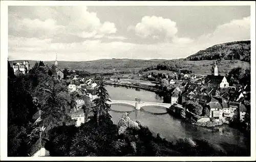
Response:
[[[241,60],[250,62],[251,41],[233,41],[213,45],[205,50],[200,50],[186,59],[190,61],[198,60]]]

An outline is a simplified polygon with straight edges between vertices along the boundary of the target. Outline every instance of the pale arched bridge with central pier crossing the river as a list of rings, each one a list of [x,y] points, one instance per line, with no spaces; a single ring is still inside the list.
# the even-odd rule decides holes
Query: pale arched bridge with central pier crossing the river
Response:
[[[108,104],[127,104],[134,106],[136,110],[140,110],[141,107],[144,106],[161,106],[169,108],[172,104],[159,103],[159,102],[142,102],[142,101],[125,101],[125,100],[110,100],[107,102]]]

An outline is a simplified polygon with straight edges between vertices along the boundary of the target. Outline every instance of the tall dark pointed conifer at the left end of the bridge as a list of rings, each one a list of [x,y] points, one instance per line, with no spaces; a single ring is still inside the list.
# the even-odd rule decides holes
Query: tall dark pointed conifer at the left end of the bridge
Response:
[[[106,103],[109,100],[109,92],[105,89],[105,85],[103,84],[103,78],[99,81],[99,87],[96,89],[95,94],[98,96],[98,98],[94,99],[93,102],[95,104],[94,106],[94,117],[97,121],[97,126],[99,126],[99,117],[100,115],[104,115],[106,117],[110,117],[109,111],[110,111],[110,105]]]

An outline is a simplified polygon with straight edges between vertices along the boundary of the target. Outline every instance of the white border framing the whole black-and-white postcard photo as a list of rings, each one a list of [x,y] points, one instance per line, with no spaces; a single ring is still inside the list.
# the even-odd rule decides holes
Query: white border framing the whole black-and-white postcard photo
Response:
[[[8,6],[251,6],[251,157],[7,157]],[[1,1],[1,160],[255,160],[255,2]]]

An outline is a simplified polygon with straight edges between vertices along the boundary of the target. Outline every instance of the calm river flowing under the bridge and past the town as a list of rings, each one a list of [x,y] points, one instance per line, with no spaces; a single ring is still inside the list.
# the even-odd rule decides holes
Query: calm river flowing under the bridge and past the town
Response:
[[[111,85],[107,85],[106,89],[113,100],[135,101],[135,98],[139,97],[141,101],[163,102],[162,98],[155,94],[155,92],[143,89],[138,90]],[[110,114],[115,124],[117,124],[125,111],[129,111],[131,119],[140,121],[143,125],[148,126],[153,134],[160,133],[160,136],[168,141],[176,141],[178,138],[185,137],[191,140],[205,138],[211,144],[222,147],[224,150],[235,149],[236,147],[247,148],[247,137],[239,130],[228,125],[214,128],[192,125],[165,113],[165,108],[155,106],[145,106],[141,110],[135,110],[134,107],[129,105],[113,104],[111,109]]]

